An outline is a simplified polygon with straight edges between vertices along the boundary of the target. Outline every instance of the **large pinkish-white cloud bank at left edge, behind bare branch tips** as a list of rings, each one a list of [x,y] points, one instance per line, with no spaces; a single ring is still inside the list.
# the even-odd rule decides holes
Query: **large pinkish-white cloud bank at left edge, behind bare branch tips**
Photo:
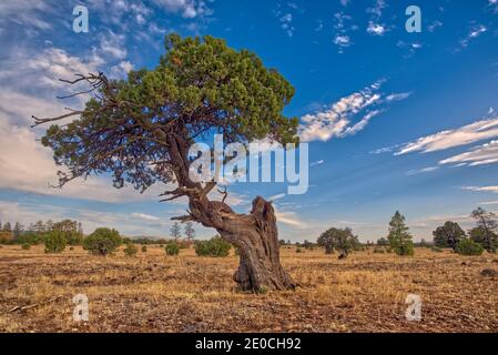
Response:
[[[10,53],[0,69],[0,187],[39,194],[124,202],[156,199],[151,190],[141,195],[132,189],[113,189],[104,178],[73,181],[63,190],[57,184],[58,166],[52,152],[37,139],[45,128],[30,129],[31,115],[53,116],[63,112],[63,104],[55,99],[67,88],[58,79],[71,79],[75,72],[94,72],[100,61],[83,61],[58,48],[49,48],[38,55],[23,51]],[[73,100],[79,109],[85,99]]]

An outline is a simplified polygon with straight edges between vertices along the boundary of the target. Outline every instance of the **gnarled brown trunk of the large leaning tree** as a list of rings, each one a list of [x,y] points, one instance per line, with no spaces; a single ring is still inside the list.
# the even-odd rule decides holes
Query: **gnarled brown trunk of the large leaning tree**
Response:
[[[215,229],[220,235],[240,251],[240,265],[233,278],[243,291],[294,290],[296,283],[284,271],[280,261],[278,231],[271,202],[257,196],[250,214],[235,213],[223,201],[211,201],[207,194],[216,183],[193,183],[187,176],[186,146],[170,141],[171,155],[176,160],[179,189],[166,194],[189,197],[189,215],[180,221],[194,221]],[[226,197],[226,195],[225,195]]]

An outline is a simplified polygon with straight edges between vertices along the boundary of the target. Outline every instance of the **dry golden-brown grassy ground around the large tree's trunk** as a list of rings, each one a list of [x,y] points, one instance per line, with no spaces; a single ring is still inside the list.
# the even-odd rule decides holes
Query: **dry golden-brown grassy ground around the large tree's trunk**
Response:
[[[286,247],[282,260],[302,287],[247,294],[234,290],[236,256],[165,256],[157,245],[136,257],[2,246],[0,331],[498,332],[498,255],[417,248],[415,257],[364,251],[338,261]],[[89,298],[89,322],[73,321],[75,294]],[[408,294],[421,297],[420,322],[405,317]]]

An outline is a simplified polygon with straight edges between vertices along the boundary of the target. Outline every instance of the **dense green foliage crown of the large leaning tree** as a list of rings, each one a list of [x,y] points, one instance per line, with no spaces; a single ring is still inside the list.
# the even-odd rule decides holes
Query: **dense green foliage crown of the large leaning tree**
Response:
[[[130,183],[144,191],[156,181],[171,182],[181,164],[169,159],[176,145],[213,132],[224,134],[225,143],[297,143],[297,119],[282,114],[294,88],[254,53],[213,37],[177,34],[165,38],[165,50],[155,69],[131,71],[126,80],[92,74],[74,81],[90,82],[93,98],[82,112],[63,116],[79,119],[51,125],[42,139],[69,169],[60,172],[61,185],[104,172],[116,187]],[[60,119],[35,118],[35,124]]]

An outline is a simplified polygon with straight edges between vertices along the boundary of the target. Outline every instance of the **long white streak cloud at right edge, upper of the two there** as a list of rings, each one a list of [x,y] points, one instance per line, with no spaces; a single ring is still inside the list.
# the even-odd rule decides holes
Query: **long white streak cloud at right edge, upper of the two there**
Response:
[[[441,131],[406,143],[395,155],[436,152],[498,136],[498,118],[477,121],[455,130]]]

